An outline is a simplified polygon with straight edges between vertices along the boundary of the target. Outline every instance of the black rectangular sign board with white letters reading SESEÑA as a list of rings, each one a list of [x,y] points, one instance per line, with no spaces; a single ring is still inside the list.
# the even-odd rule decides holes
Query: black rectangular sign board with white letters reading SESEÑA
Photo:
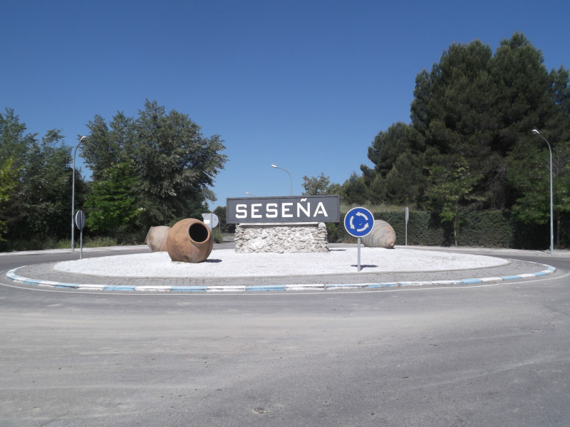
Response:
[[[229,224],[341,221],[341,201],[337,194],[229,198],[226,206]]]

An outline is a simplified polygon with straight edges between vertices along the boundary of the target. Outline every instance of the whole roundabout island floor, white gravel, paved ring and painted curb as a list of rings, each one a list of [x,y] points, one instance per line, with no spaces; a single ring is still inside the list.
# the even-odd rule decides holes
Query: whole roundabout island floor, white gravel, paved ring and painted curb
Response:
[[[6,278],[25,285],[76,290],[139,292],[266,292],[391,289],[473,285],[532,279],[554,273],[551,265],[511,258],[408,248],[356,247],[328,253],[235,253],[218,249],[202,263],[173,262],[144,251],[59,263],[24,265]]]

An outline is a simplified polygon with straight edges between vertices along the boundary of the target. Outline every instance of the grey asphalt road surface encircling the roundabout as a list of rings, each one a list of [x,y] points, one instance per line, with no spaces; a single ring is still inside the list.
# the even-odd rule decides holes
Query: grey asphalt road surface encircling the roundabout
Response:
[[[27,256],[0,258],[0,426],[570,419],[569,258],[473,287],[174,295],[14,286],[57,260]]]

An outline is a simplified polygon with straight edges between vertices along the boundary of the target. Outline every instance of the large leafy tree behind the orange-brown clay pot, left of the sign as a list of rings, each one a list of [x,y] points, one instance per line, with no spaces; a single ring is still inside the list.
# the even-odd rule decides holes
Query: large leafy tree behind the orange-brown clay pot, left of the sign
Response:
[[[110,125],[100,116],[88,123],[91,131],[83,157],[93,178],[105,176],[119,162],[133,164],[134,198],[142,208],[137,224],[143,230],[180,218],[201,218],[206,201],[215,201],[209,189],[227,157],[218,135],[203,137],[187,115],[146,101],[136,119],[119,112]]]

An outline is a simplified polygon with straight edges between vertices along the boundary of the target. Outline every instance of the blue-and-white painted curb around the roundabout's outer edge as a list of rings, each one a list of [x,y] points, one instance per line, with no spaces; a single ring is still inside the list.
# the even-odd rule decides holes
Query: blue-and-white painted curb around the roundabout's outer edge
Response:
[[[549,275],[556,271],[551,265],[540,264],[546,267],[545,270],[536,273],[524,273],[519,275],[505,275],[489,278],[464,278],[457,280],[431,280],[431,281],[401,281],[387,283],[335,283],[335,284],[312,284],[298,283],[291,285],[190,285],[190,286],[149,286],[149,285],[92,285],[81,283],[63,283],[53,282],[50,280],[38,280],[33,278],[24,278],[16,273],[19,268],[25,265],[9,270],[6,278],[16,283],[24,285],[36,285],[44,288],[61,288],[75,290],[104,290],[104,291],[134,291],[134,292],[269,292],[269,291],[300,291],[300,290],[381,290],[394,288],[416,288],[424,286],[457,286],[457,285],[477,285],[487,283],[507,282],[509,280],[519,280],[525,278],[539,278]]]

